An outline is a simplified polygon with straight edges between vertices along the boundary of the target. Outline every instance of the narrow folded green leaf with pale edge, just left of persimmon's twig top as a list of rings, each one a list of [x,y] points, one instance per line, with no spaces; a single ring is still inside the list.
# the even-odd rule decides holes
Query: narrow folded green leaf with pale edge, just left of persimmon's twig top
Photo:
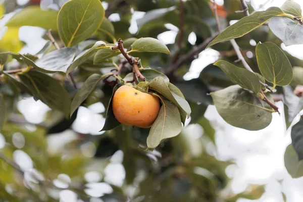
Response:
[[[71,73],[74,69],[76,69],[76,67],[78,67],[79,65],[81,65],[82,63],[84,63],[86,60],[88,60],[88,58],[90,56],[92,56],[94,53],[96,53],[99,49],[106,48],[106,47],[107,47],[106,43],[103,42],[103,41],[97,41],[97,42],[95,42],[95,44],[91,48],[83,51],[81,54],[79,54],[75,58],[74,62],[67,69],[66,75],[68,75],[69,73]]]

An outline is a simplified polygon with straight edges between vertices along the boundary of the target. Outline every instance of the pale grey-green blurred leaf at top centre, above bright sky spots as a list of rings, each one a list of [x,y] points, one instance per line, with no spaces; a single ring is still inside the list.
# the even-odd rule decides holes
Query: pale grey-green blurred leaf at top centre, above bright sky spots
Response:
[[[142,18],[139,18],[137,20],[138,29],[140,29],[147,22],[161,18],[168,12],[174,11],[176,8],[177,7],[173,6],[170,8],[155,9],[155,10],[148,11],[147,13],[145,13],[145,15]]]

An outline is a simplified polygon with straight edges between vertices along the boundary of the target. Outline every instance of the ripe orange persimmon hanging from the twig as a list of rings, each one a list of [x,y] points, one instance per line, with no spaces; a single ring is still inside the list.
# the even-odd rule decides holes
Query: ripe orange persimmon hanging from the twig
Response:
[[[114,115],[124,125],[149,128],[157,119],[159,110],[159,97],[132,86],[119,87],[113,97]]]

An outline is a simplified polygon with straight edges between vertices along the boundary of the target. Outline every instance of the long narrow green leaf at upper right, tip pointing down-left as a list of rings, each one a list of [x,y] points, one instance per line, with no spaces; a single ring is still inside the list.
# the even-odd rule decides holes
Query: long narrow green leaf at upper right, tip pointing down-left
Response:
[[[281,9],[277,7],[271,7],[266,11],[258,11],[250,16],[241,18],[241,20],[227,27],[223,32],[221,32],[212,42],[210,42],[207,47],[223,41],[229,41],[231,39],[244,36],[252,30],[262,26],[271,17],[282,16],[283,14],[284,13]]]

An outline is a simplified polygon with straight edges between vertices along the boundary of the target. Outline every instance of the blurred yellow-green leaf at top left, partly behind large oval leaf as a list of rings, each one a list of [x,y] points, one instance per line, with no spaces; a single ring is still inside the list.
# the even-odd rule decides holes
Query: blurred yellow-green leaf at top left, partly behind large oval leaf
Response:
[[[56,31],[57,15],[58,13],[52,10],[41,10],[39,6],[29,6],[15,14],[6,26],[34,26]]]

